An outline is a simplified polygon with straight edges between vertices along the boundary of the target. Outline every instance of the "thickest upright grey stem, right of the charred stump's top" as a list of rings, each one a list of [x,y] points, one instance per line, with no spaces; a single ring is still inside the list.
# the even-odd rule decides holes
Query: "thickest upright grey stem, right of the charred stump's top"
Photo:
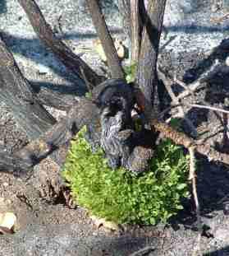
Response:
[[[145,115],[149,119],[158,87],[158,46],[163,28],[166,0],[149,1],[145,12],[144,29],[138,63],[137,82],[145,97]],[[143,15],[143,13],[142,13]]]

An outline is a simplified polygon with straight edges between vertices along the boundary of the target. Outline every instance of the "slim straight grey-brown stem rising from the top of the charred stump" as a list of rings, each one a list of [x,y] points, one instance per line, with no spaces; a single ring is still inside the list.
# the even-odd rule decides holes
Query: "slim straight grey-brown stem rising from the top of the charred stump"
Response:
[[[94,27],[108,58],[108,67],[112,72],[112,78],[125,78],[120,60],[117,56],[117,51],[112,41],[112,36],[109,33],[103,13],[98,5],[98,0],[86,0],[86,2],[89,7],[89,12],[92,17]]]

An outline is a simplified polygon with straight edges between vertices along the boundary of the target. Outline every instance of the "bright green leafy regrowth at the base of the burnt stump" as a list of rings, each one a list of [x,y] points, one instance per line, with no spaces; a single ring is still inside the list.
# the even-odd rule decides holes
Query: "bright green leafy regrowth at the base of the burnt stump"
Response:
[[[182,209],[181,198],[189,192],[188,159],[181,147],[162,142],[149,170],[135,176],[123,168],[111,170],[101,149],[91,152],[84,134],[85,128],[71,142],[62,172],[78,205],[119,224],[154,225]]]

